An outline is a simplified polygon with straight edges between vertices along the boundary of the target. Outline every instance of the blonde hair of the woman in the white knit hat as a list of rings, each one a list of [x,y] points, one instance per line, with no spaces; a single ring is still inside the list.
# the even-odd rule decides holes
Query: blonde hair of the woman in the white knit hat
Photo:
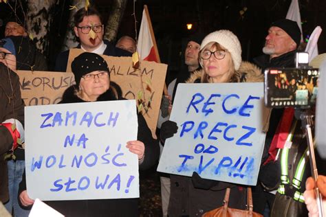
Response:
[[[204,69],[205,71],[205,68],[204,68],[204,64],[203,64],[203,59],[201,58],[201,55],[202,52],[204,52],[205,50],[208,50],[208,49],[211,49],[215,47],[216,50],[225,50],[228,54],[230,54],[230,52],[228,52],[228,49],[224,48],[222,45],[220,45],[219,43],[215,42],[215,41],[212,41],[210,43],[208,43],[207,45],[205,45],[205,47],[203,47],[203,49],[199,52],[199,64],[202,66],[202,68]],[[236,78],[235,78],[235,63],[233,62],[232,60],[232,56],[230,54],[230,61],[229,61],[229,69],[228,71],[226,72],[228,73],[229,77],[227,80],[225,80],[224,82],[235,82]],[[210,78],[208,76],[208,74],[204,73],[204,76],[202,76],[202,80],[201,80],[202,83],[210,83],[210,82],[213,82],[212,81],[212,78]]]

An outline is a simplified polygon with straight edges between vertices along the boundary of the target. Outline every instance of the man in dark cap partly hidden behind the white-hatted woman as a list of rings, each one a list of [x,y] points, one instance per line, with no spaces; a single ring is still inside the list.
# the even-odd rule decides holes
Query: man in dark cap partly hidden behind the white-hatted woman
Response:
[[[169,110],[171,110],[171,102],[174,99],[175,91],[177,89],[177,84],[184,83],[191,76],[191,73],[200,68],[198,62],[198,54],[200,50],[200,43],[202,43],[202,39],[204,38],[203,34],[193,34],[189,37],[188,44],[186,46],[186,50],[184,51],[184,63],[186,67],[182,67],[182,71],[177,74],[177,78],[173,80],[168,86],[169,95],[164,95],[161,105],[161,111],[159,115],[159,119],[157,122],[157,128],[161,128],[162,124],[169,124],[166,122],[169,120]],[[171,101],[172,100],[172,101]],[[169,108],[170,106],[170,108]],[[166,122],[166,123],[165,123]],[[174,130],[176,126],[171,126],[170,130]],[[165,132],[169,133],[169,132]],[[166,136],[164,136],[166,137]],[[163,150],[164,143],[160,141],[160,149],[161,152]],[[161,181],[161,196],[162,196],[162,213],[163,216],[168,215],[168,207],[169,207],[169,198],[170,198],[170,178],[169,174],[162,174],[160,176]]]

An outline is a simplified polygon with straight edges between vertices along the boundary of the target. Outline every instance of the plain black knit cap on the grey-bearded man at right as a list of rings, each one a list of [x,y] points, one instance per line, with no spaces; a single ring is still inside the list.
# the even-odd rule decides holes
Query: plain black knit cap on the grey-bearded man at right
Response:
[[[295,21],[290,21],[289,19],[280,19],[272,23],[270,26],[280,27],[293,39],[293,41],[296,43],[296,47],[300,45],[301,31],[298,27],[298,23]]]

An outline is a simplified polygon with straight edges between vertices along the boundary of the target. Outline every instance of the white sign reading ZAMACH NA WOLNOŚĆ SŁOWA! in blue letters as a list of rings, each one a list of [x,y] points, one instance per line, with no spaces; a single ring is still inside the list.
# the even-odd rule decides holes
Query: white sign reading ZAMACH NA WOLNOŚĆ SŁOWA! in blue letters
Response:
[[[25,107],[28,195],[42,201],[139,197],[135,100]]]

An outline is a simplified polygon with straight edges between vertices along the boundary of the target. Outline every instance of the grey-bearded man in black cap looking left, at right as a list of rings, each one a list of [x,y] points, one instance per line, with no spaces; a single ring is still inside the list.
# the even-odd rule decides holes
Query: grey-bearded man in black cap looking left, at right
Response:
[[[295,66],[295,53],[301,40],[301,31],[295,21],[275,21],[270,25],[265,40],[265,55],[254,58],[254,63],[262,69]]]

